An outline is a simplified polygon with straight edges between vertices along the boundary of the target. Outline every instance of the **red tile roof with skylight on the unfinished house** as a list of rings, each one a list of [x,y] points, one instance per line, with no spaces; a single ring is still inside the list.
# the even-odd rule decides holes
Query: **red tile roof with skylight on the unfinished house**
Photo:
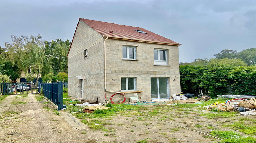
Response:
[[[79,18],[79,20],[86,23],[88,26],[93,28],[95,31],[100,33],[101,35],[105,36],[114,36],[114,37],[120,37],[120,38],[132,38],[132,39],[140,39],[143,41],[155,41],[155,42],[164,42],[164,43],[172,43],[180,45],[177,42],[174,42],[170,39],[167,39],[165,37],[162,37],[158,34],[155,34],[153,32],[150,32],[144,28],[141,27],[134,27],[134,26],[126,26],[126,25],[119,25],[114,23],[107,23],[107,22],[101,22],[101,21],[95,21],[95,20],[89,20],[89,19],[83,19]],[[135,30],[141,30],[146,32],[145,33],[139,33]],[[109,31],[113,31],[110,33]]]

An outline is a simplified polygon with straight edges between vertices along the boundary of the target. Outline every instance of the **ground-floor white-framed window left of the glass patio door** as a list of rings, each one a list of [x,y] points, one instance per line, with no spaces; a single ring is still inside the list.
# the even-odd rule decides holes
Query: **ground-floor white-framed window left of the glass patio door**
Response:
[[[135,91],[135,77],[122,77],[121,91]]]

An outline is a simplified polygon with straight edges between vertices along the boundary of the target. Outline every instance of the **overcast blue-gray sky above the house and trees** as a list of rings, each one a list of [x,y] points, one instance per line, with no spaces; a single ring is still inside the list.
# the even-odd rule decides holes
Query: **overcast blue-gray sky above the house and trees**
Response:
[[[79,17],[143,27],[182,43],[180,62],[256,48],[255,0],[0,0],[0,46],[12,34],[71,41]]]

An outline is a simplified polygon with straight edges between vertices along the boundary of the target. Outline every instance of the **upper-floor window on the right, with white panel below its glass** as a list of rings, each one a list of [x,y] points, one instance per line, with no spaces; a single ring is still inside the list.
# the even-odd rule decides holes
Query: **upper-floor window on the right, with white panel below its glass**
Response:
[[[167,65],[167,50],[154,49],[154,64]]]

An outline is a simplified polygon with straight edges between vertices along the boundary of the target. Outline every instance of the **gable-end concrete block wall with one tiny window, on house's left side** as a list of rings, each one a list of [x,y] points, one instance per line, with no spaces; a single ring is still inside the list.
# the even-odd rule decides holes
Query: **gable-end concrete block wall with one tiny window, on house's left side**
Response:
[[[81,91],[79,78],[83,79],[84,99],[102,96],[100,100],[104,101],[104,40],[102,35],[82,21],[77,26],[68,55],[68,95],[77,96]]]

